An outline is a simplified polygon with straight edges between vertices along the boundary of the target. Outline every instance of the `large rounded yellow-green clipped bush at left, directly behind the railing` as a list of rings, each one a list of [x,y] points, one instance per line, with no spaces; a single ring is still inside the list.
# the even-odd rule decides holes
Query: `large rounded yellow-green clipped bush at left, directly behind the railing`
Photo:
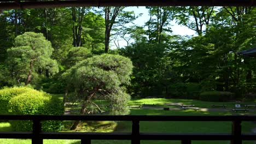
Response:
[[[59,99],[44,92],[23,93],[10,99],[9,112],[15,115],[63,115],[64,107]],[[10,121],[15,131],[31,131],[31,121]],[[43,121],[43,131],[61,130],[60,121]]]

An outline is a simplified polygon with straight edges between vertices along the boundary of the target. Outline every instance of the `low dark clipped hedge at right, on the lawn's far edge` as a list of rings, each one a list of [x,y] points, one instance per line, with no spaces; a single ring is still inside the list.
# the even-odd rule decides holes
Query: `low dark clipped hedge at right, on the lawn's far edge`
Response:
[[[234,98],[234,93],[230,92],[202,92],[199,96],[199,100],[203,101],[228,101]]]

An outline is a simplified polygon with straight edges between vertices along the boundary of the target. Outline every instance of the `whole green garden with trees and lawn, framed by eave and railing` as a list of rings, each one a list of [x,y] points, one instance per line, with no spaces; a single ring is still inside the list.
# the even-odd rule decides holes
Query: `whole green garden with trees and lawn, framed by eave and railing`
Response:
[[[125,7],[0,9],[0,115],[256,115],[254,7],[146,9],[144,23]],[[173,34],[173,23],[195,34]],[[30,121],[0,121],[0,131],[31,130]],[[42,130],[121,133],[131,122],[44,121]],[[230,130],[231,122],[140,123],[142,132]],[[255,122],[242,122],[242,133],[256,133]],[[131,143],[92,140],[113,142]]]

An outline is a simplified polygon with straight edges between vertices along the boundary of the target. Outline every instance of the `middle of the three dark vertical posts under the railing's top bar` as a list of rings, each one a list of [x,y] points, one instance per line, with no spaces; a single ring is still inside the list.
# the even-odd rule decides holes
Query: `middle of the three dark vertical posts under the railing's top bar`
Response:
[[[132,120],[132,139],[131,144],[139,144],[141,140],[139,139],[139,121],[136,119]]]

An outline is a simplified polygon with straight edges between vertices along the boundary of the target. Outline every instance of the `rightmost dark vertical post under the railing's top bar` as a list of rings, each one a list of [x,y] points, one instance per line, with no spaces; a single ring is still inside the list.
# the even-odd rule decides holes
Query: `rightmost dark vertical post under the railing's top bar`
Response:
[[[240,120],[235,120],[232,122],[232,135],[233,139],[230,142],[231,144],[242,144],[242,127]]]

